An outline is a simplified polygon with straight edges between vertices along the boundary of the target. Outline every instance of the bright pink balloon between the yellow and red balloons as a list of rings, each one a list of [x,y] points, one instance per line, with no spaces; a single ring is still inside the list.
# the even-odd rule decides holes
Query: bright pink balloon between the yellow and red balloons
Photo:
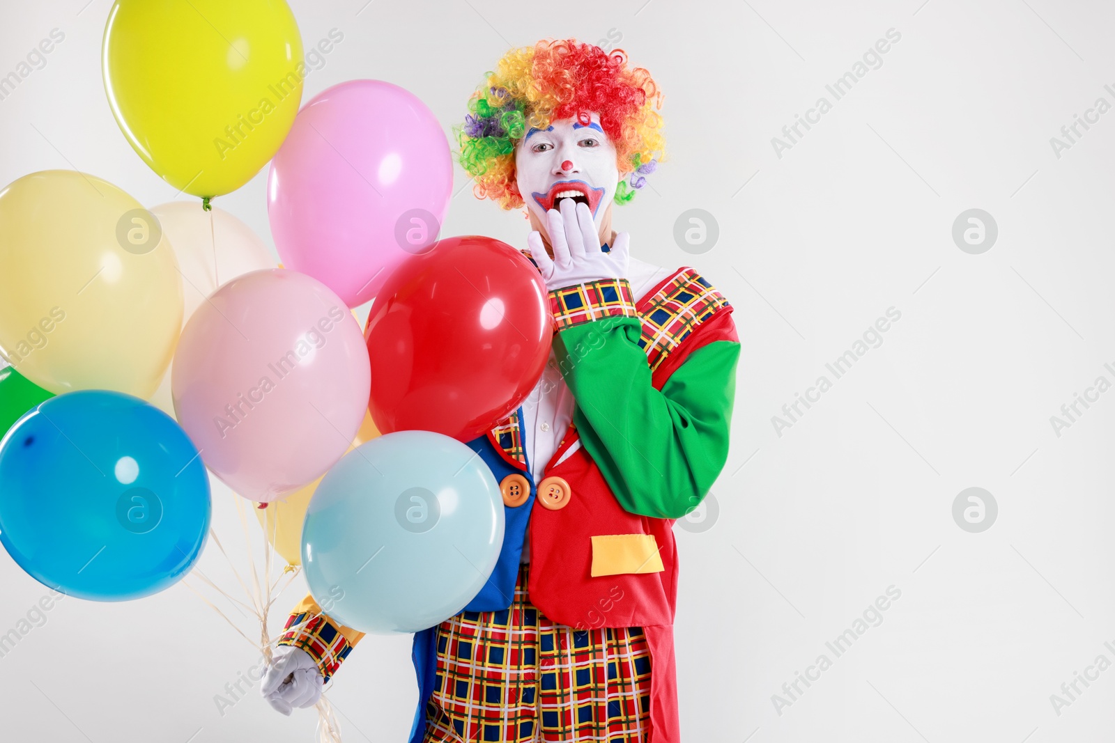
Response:
[[[434,114],[390,82],[349,80],[299,111],[271,162],[271,234],[283,265],[355,307],[434,243],[452,190]]]

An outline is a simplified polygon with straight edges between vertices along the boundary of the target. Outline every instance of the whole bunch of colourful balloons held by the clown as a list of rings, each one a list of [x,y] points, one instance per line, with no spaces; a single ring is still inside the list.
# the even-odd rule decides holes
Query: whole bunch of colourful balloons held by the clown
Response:
[[[466,442],[550,351],[537,271],[438,239],[448,143],[413,94],[349,80],[299,108],[284,0],[116,0],[101,71],[135,151],[202,204],[68,170],[0,192],[0,544],[75,596],[153,594],[204,548],[207,469],[348,626],[457,613],[504,527]],[[280,266],[211,203],[269,160]]]

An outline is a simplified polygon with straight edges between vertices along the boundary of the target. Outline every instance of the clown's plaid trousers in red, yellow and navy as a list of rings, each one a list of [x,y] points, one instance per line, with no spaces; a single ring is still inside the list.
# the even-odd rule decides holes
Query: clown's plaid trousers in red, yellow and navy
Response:
[[[574,629],[531,605],[529,565],[502,612],[465,612],[437,629],[425,743],[644,743],[650,651],[639,627]]]

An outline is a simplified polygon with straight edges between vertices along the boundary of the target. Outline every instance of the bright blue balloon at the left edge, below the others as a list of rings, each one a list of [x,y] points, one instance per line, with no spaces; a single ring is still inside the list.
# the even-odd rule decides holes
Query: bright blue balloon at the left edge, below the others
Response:
[[[197,449],[138,398],[68,392],[0,440],[0,544],[70,596],[116,602],[169,587],[197,561],[210,514]]]

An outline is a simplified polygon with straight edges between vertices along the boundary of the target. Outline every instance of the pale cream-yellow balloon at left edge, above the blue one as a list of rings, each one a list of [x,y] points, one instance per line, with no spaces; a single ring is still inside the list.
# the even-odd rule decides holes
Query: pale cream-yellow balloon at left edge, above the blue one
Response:
[[[182,329],[182,276],[158,221],[96,176],[43,170],[0,192],[0,352],[56,394],[147,399]]]

